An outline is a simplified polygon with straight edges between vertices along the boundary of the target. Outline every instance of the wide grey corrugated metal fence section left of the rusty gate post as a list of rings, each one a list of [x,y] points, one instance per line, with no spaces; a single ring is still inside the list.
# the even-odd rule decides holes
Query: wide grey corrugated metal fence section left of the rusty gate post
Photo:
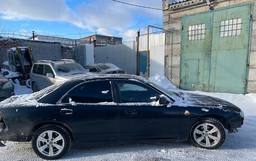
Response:
[[[113,63],[128,74],[136,75],[136,43],[96,47],[94,52],[95,63]]]

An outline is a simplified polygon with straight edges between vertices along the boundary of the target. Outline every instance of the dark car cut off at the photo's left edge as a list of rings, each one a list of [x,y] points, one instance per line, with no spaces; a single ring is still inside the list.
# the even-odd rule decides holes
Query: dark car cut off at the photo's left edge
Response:
[[[4,77],[8,74],[9,72],[7,71],[3,73],[0,72],[0,102],[14,95],[14,86],[6,77]]]

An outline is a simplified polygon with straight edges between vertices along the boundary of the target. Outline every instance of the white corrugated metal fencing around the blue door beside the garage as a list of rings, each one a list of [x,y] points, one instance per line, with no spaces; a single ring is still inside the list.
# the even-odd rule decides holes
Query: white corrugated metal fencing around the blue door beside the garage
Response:
[[[149,36],[149,76],[155,76],[157,73],[164,74],[164,45],[165,34]],[[148,36],[140,36],[139,51],[148,50]]]

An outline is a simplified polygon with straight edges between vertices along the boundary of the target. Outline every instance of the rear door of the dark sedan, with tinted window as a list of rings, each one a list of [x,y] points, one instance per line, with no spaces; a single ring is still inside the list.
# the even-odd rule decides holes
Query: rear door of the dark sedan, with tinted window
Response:
[[[118,106],[110,81],[90,81],[76,86],[55,109],[75,141],[111,141],[118,138]]]

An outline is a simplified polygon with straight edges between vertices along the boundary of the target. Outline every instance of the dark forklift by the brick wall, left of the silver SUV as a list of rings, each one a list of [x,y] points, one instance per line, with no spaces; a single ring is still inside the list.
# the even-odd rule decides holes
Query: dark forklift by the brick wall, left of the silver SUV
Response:
[[[18,72],[20,84],[25,85],[29,79],[31,67],[34,63],[34,58],[30,47],[15,47],[7,50],[9,61],[9,70]]]

